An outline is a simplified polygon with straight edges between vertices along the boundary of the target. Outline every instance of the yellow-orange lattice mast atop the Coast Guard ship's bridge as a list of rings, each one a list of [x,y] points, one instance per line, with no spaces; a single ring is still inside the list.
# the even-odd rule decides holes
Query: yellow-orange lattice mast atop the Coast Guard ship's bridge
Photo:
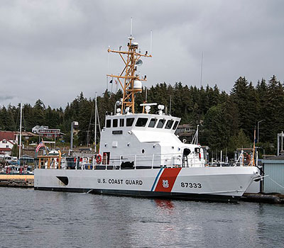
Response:
[[[123,60],[125,67],[122,70],[121,74],[113,75],[107,74],[107,76],[116,78],[121,85],[123,90],[123,98],[121,103],[121,113],[127,113],[128,109],[131,110],[132,113],[135,113],[134,103],[135,103],[135,94],[142,91],[141,81],[147,81],[146,76],[143,79],[140,78],[140,75],[137,72],[137,66],[142,64],[140,60],[141,57],[152,57],[152,55],[148,55],[148,51],[145,54],[141,54],[141,52],[137,52],[138,43],[133,42],[133,37],[129,37],[129,43],[127,46],[129,47],[128,51],[119,51],[111,50],[110,48],[107,50],[108,52],[118,53]],[[126,109],[127,108],[127,109]]]

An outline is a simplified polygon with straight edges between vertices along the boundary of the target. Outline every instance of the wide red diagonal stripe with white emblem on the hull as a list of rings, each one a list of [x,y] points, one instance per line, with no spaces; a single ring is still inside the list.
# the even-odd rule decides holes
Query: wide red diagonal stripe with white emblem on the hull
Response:
[[[160,179],[155,187],[155,191],[172,191],[173,185],[175,184],[175,179],[177,179],[180,170],[181,168],[165,168],[163,173],[160,175]]]

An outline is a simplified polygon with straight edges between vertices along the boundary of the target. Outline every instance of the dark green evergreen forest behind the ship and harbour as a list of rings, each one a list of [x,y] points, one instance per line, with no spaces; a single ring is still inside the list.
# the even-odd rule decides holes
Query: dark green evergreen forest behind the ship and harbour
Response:
[[[136,111],[140,110],[146,90],[136,96]],[[106,112],[114,111],[114,104],[121,98],[121,91],[112,94],[105,91],[97,98],[101,127]],[[254,128],[261,122],[258,146],[266,154],[275,154],[277,133],[284,130],[284,88],[273,76],[269,81],[262,79],[256,86],[245,77],[236,80],[233,89],[227,94],[215,85],[212,87],[182,86],[176,83],[156,84],[147,92],[148,103],[163,104],[171,115],[182,118],[181,123],[200,124],[200,144],[207,145],[212,151],[228,150],[232,153],[236,147],[250,147],[253,143]],[[156,110],[152,108],[154,113]],[[79,122],[80,132],[75,145],[87,145],[87,139],[94,142],[94,98],[84,98],[81,93],[65,109],[46,107],[38,99],[34,106],[23,105],[23,128],[31,131],[35,125],[48,125],[60,128],[63,138],[70,140],[70,123]],[[18,130],[19,105],[0,106],[0,130]],[[92,130],[92,132],[88,132]],[[88,136],[89,133],[89,136]],[[76,144],[77,143],[77,144]],[[261,151],[260,151],[261,152]]]

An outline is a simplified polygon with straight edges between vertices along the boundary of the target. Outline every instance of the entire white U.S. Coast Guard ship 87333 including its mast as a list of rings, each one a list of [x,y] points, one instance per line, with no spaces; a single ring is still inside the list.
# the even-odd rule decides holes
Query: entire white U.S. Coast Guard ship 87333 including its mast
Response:
[[[118,53],[125,64],[121,74],[108,75],[119,81],[123,98],[116,102],[116,113],[105,118],[92,166],[77,162],[69,166],[68,159],[63,165],[60,155],[43,157],[34,171],[35,189],[238,201],[253,180],[259,179],[257,168],[208,167],[198,142],[185,144],[175,135],[180,118],[166,113],[163,105],[145,101],[142,113],[136,113],[135,96],[146,81],[137,74],[137,67],[142,64],[141,57],[151,55],[142,54],[132,36],[127,47],[126,51],[108,50]],[[49,159],[47,165],[45,159]]]

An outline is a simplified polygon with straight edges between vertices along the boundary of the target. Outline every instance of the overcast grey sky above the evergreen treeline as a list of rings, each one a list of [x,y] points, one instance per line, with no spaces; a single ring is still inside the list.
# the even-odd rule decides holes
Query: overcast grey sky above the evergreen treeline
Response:
[[[217,84],[229,93],[239,77],[283,83],[283,9],[281,0],[0,0],[0,107],[40,98],[65,108],[81,91],[111,91],[106,74],[124,64],[107,49],[126,49],[131,18],[141,52],[153,56],[138,68],[143,86]]]

